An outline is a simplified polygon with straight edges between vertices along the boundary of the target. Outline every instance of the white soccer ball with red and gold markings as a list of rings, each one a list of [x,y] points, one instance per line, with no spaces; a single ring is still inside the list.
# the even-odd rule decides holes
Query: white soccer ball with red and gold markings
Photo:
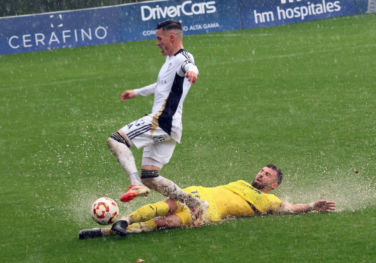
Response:
[[[108,225],[117,221],[119,207],[108,197],[97,199],[91,206],[91,217],[100,225]]]

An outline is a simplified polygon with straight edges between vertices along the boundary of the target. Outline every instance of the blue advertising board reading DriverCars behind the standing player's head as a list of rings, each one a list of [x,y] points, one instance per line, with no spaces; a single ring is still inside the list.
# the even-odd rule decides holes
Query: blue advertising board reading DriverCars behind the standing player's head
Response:
[[[123,41],[155,38],[159,21],[182,21],[184,35],[240,29],[238,0],[165,0],[120,6]]]

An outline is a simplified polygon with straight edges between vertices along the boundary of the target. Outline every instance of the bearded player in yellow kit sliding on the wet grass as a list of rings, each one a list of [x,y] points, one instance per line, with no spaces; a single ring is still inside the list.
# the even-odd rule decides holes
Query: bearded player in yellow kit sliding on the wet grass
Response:
[[[191,186],[183,189],[193,197],[205,200],[209,207],[204,212],[202,224],[214,224],[223,219],[273,213],[308,213],[313,210],[331,212],[335,210],[332,201],[318,200],[310,204],[290,204],[268,193],[283,179],[280,169],[272,164],[262,168],[252,183],[238,180],[223,186]],[[126,227],[126,233],[140,233],[158,229],[189,227],[192,225],[190,210],[181,202],[167,198],[154,204],[147,204],[121,218],[115,224]],[[114,235],[111,228],[81,230],[80,239]],[[119,233],[117,233],[119,234]]]

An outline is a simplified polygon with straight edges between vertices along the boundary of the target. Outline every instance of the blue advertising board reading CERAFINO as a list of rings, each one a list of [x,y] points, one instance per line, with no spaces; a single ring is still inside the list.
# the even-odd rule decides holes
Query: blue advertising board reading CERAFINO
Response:
[[[116,8],[0,19],[0,54],[121,41]]]

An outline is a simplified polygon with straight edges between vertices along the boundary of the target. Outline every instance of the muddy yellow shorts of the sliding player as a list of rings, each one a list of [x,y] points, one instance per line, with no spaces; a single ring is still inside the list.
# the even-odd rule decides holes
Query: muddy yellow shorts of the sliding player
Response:
[[[186,193],[189,193],[193,197],[199,198],[200,200],[205,200],[209,204],[209,208],[203,215],[202,224],[212,224],[214,222],[220,221],[221,216],[218,213],[217,203],[214,200],[212,193],[210,192],[209,188],[205,188],[202,186],[191,186],[183,189]],[[175,214],[180,218],[182,221],[183,226],[191,226],[192,225],[192,218],[189,208],[177,201],[177,210]]]

